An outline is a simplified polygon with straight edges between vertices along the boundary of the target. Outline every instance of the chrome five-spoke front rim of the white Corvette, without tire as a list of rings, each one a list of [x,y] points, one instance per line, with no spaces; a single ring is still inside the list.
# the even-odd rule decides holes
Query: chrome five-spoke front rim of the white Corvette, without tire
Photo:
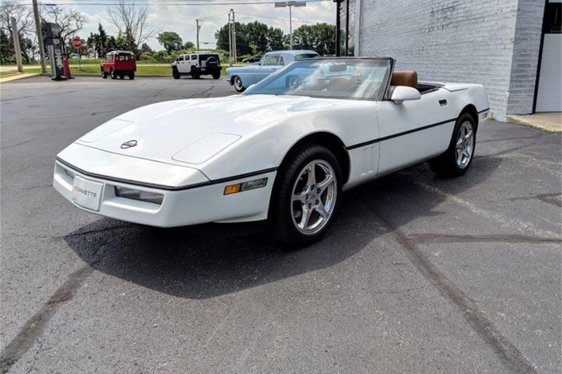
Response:
[[[328,224],[336,207],[337,183],[327,161],[311,161],[301,170],[291,195],[291,215],[299,232],[314,235]]]

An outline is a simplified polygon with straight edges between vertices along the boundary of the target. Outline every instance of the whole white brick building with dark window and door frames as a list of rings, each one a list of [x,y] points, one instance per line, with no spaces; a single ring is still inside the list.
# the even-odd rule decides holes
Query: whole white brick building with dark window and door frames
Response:
[[[562,111],[562,0],[334,0],[338,56],[486,87],[496,118]]]

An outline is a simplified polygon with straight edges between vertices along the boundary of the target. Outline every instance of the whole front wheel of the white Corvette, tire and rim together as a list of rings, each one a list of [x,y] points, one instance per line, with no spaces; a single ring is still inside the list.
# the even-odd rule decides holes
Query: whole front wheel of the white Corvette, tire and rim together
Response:
[[[318,242],[339,206],[342,173],[336,156],[320,145],[302,145],[277,176],[269,211],[274,236],[297,247]]]

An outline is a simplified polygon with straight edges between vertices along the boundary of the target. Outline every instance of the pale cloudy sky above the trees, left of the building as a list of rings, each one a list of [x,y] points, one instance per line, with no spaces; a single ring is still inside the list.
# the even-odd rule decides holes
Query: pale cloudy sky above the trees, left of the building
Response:
[[[196,41],[196,19],[201,19],[200,25],[200,49],[215,48],[215,31],[228,22],[228,12],[230,8],[235,11],[237,22],[251,22],[258,20],[269,26],[279,27],[284,33],[289,33],[289,8],[275,8],[274,4],[244,4],[244,5],[213,5],[209,1],[208,5],[182,4],[182,5],[162,5],[159,3],[164,0],[149,0],[148,6],[149,20],[158,32],[175,31],[183,41]],[[170,3],[173,0],[168,0]],[[182,0],[178,0],[181,2]],[[201,0],[208,1],[208,0]],[[223,0],[221,3],[233,0]],[[251,0],[239,0],[239,2]],[[254,0],[256,2],[268,0]],[[140,0],[139,0],[140,2]],[[147,0],[142,0],[147,3]],[[216,0],[215,0],[216,2]],[[234,2],[238,2],[234,0]],[[62,4],[61,4],[62,5]],[[90,32],[97,33],[98,23],[102,24],[108,34],[117,34],[117,29],[110,22],[107,14],[107,6],[85,4],[65,5],[65,8],[72,8],[82,12],[87,17],[87,25],[78,35],[87,38]],[[292,8],[293,29],[302,24],[315,24],[316,22],[336,23],[336,3],[332,1],[310,2],[306,7]],[[156,38],[149,39],[148,45],[155,50],[164,49]],[[206,44],[208,43],[208,44]]]

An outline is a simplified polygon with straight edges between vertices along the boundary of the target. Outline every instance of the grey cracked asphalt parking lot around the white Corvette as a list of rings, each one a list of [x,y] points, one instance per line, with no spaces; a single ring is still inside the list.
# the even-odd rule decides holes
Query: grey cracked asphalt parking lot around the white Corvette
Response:
[[[2,372],[560,372],[560,134],[488,122],[466,176],[423,164],[348,191],[300,251],[247,227],[101,218],[53,190],[55,155],[98,124],[230,94],[222,79],[2,84]]]

